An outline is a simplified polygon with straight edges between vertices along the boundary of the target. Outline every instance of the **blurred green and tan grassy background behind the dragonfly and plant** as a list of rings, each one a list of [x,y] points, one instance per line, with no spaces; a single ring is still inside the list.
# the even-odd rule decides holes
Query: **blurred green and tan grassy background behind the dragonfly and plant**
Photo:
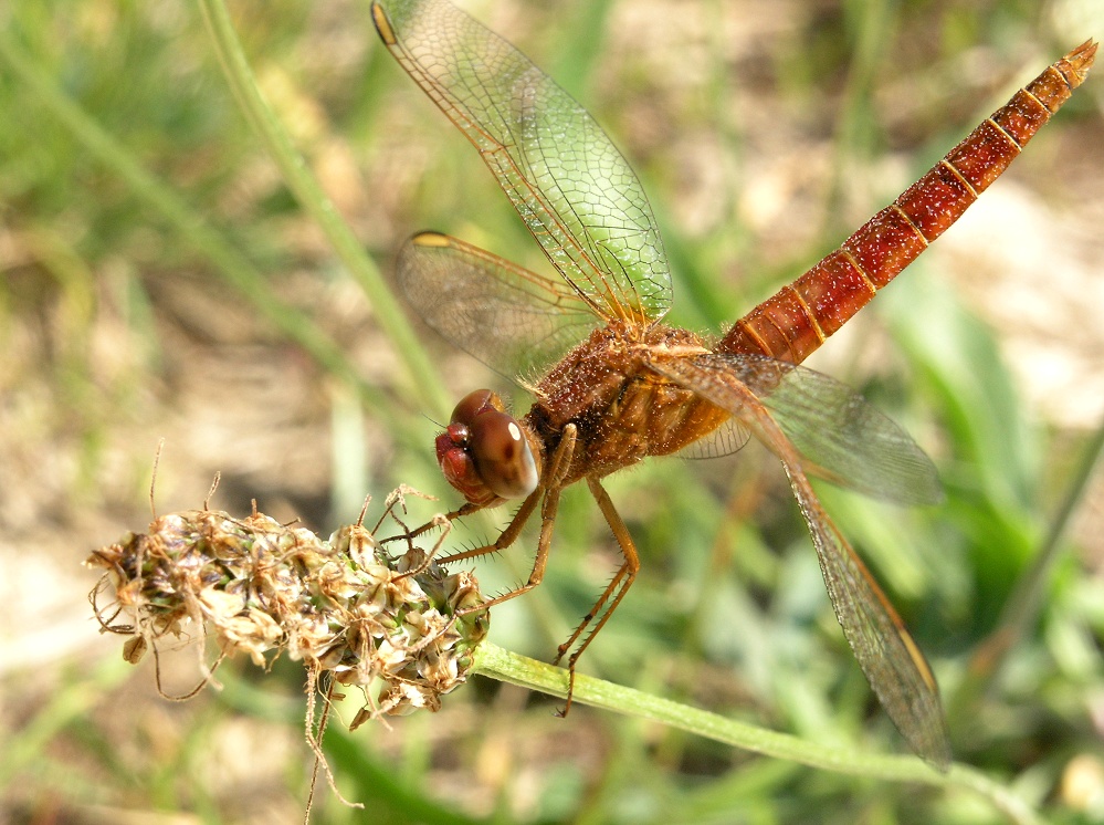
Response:
[[[834,248],[1089,36],[1093,0],[471,0],[638,170],[673,323],[719,331]],[[260,87],[378,268],[438,229],[547,263],[476,153],[402,74],[368,3],[233,0]],[[157,693],[86,601],[90,551],[212,507],[325,534],[399,483],[455,507],[438,398],[512,388],[422,326],[413,375],[285,187],[196,4],[0,7],[0,822],[302,817],[303,671],[227,662]],[[1104,822],[1104,481],[1032,567],[1104,417],[1104,73],[980,202],[810,362],[902,424],[944,504],[820,485],[933,662],[959,760],[1054,822]],[[252,280],[249,273],[255,275]],[[288,330],[336,345],[322,363]],[[358,376],[358,382],[348,375]],[[643,570],[581,669],[829,744],[902,752],[832,616],[777,463],[757,446],[611,478]],[[456,544],[493,536],[508,511]],[[535,535],[477,566],[523,581]],[[492,639],[547,660],[616,568],[582,488],[545,584]],[[1029,582],[1034,589],[1024,585]],[[974,659],[1023,619],[996,672]],[[200,679],[167,650],[167,693]],[[969,672],[980,682],[970,682]],[[806,769],[473,679],[437,716],[335,723],[316,822],[986,823],[965,793]],[[347,720],[346,720],[347,721]]]

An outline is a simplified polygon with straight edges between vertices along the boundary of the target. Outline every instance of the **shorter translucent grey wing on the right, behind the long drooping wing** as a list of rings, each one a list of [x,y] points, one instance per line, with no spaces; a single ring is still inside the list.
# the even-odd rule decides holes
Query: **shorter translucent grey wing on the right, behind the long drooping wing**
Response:
[[[712,363],[726,365],[759,397],[806,472],[900,504],[932,504],[943,498],[932,460],[845,384],[758,355],[714,355]]]

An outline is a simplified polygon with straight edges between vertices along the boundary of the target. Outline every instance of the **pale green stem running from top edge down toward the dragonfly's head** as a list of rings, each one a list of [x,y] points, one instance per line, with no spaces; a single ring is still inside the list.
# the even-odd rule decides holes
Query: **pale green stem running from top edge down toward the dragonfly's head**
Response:
[[[423,409],[446,414],[451,405],[445,398],[437,368],[407,322],[406,314],[391,294],[379,269],[365,253],[333,201],[326,197],[303,156],[292,145],[283,124],[261,95],[225,4],[222,0],[198,0],[198,2],[227,81],[250,125],[264,142],[269,154],[280,168],[284,182],[295,195],[299,206],[325,232],[341,263],[371,301],[380,327],[407,367],[418,403]]]

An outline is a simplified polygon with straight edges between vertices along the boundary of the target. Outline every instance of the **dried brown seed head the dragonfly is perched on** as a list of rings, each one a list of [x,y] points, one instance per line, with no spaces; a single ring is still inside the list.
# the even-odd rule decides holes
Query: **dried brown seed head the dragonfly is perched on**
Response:
[[[483,598],[471,573],[449,574],[412,544],[392,557],[359,523],[323,541],[256,512],[174,513],[86,564],[107,571],[91,597],[105,631],[132,636],[128,661],[192,627],[257,665],[286,652],[343,685],[381,680],[354,727],[440,708],[488,627],[486,613],[473,612]],[[105,592],[109,604],[101,604]]]

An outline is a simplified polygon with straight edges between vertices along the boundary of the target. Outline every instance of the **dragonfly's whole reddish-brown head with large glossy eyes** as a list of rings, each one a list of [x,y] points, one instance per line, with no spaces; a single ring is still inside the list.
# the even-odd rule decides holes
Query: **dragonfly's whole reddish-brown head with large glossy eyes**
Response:
[[[450,484],[473,504],[523,499],[537,489],[540,467],[522,425],[490,389],[464,396],[437,437],[437,460]]]

